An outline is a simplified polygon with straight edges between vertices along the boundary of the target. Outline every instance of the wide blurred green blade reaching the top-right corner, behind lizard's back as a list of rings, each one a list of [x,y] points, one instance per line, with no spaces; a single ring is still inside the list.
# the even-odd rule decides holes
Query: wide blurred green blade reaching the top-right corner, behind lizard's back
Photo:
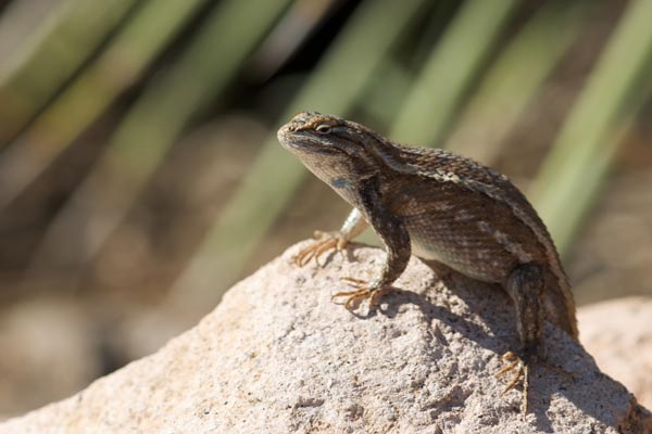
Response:
[[[534,203],[561,252],[569,248],[604,180],[623,124],[650,98],[650,1],[627,8],[537,177]]]

